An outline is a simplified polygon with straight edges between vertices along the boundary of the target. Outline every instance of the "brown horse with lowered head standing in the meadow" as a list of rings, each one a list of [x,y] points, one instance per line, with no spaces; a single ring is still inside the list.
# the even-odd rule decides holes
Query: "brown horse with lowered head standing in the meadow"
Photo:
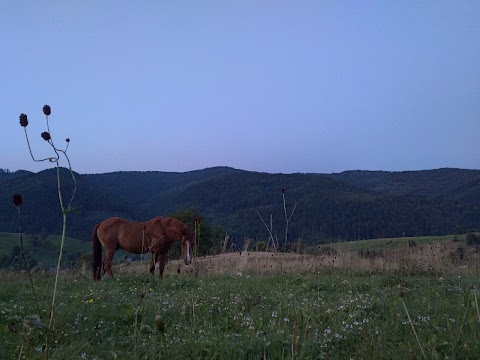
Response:
[[[160,261],[160,277],[163,277],[168,250],[177,240],[182,241],[183,260],[188,265],[192,262],[195,234],[180,220],[161,216],[145,222],[119,217],[104,220],[95,225],[92,232],[93,279],[100,280],[102,274],[113,276],[112,259],[118,249],[133,254],[152,253],[150,273],[155,271],[155,264]],[[103,262],[102,246],[105,248]]]

